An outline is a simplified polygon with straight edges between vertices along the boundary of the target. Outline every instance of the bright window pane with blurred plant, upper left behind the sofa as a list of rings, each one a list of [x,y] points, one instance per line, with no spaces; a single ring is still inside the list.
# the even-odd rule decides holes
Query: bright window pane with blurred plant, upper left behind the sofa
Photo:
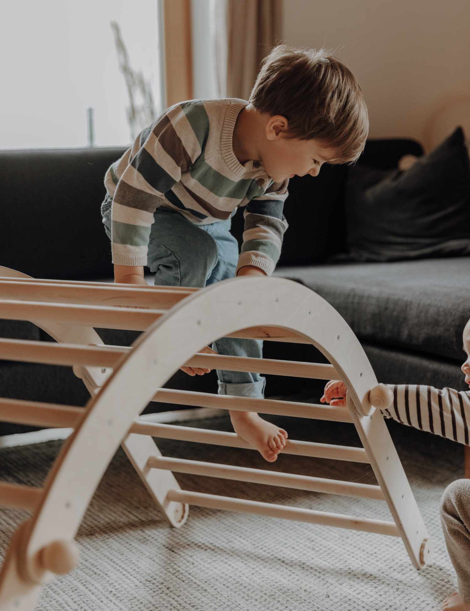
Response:
[[[146,92],[145,101],[134,86],[134,106],[152,98],[154,118],[163,111],[157,0],[10,2],[8,10],[0,22],[0,148],[128,145],[136,134],[119,35],[128,78],[140,75]]]

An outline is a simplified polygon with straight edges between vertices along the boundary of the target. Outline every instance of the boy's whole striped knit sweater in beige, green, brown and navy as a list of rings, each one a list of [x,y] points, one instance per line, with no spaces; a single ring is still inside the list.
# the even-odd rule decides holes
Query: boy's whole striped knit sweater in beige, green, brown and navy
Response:
[[[232,137],[244,100],[189,100],[167,109],[109,167],[112,262],[147,265],[156,208],[177,210],[202,225],[244,207],[237,271],[252,265],[272,274],[287,222],[288,180],[274,183],[259,161],[240,164]],[[188,256],[190,253],[188,253]]]

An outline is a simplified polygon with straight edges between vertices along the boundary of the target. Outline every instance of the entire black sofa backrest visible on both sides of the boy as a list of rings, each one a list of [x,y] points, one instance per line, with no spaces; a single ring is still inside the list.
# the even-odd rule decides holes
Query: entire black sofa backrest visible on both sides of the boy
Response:
[[[0,150],[0,265],[37,278],[112,277],[111,246],[101,224],[105,172],[125,148]],[[359,163],[392,168],[409,140],[368,141]],[[279,265],[321,263],[345,247],[347,166],[322,167],[318,177],[289,184],[289,223]],[[241,243],[243,213],[232,233]]]

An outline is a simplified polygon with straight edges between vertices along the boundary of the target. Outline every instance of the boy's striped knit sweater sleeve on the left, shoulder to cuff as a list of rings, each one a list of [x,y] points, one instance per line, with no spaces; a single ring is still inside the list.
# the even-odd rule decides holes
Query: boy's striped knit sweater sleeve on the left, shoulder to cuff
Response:
[[[188,171],[201,153],[191,126],[191,105],[169,108],[136,138],[119,178],[111,171],[111,243],[115,265],[147,265],[153,213],[161,197]],[[116,166],[122,164],[122,158]],[[111,166],[112,170],[112,166]]]

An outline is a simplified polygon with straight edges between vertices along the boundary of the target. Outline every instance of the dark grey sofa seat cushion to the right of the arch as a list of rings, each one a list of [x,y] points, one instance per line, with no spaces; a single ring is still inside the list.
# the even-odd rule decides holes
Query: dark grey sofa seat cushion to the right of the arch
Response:
[[[470,257],[282,267],[328,301],[359,340],[463,362]]]

